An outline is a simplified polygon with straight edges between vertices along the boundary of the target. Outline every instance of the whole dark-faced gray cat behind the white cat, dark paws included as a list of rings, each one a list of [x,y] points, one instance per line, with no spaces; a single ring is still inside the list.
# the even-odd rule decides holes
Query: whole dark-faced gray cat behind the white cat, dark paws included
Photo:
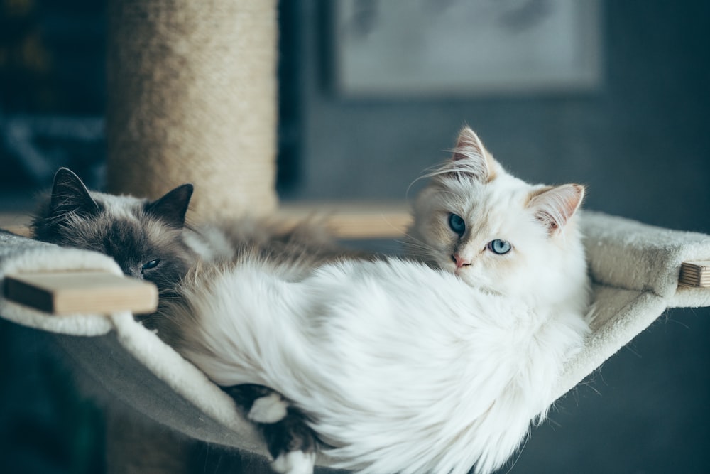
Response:
[[[318,222],[290,227],[244,217],[232,222],[192,227],[185,223],[192,185],[184,184],[158,200],[90,191],[67,168],[55,174],[53,188],[40,203],[31,230],[35,239],[65,247],[94,250],[114,258],[124,274],[158,286],[160,306],[175,298],[175,286],[201,262],[216,262],[254,254],[278,262],[284,278],[295,281],[315,266],[344,258],[368,257],[338,247]],[[160,313],[138,315],[148,328],[158,328],[166,343],[175,344],[182,328],[166,325]],[[312,464],[315,438],[297,411],[263,414],[265,402],[280,399],[255,384],[223,387],[261,427],[269,451],[280,459],[275,468],[290,469],[290,460]],[[263,399],[263,400],[261,400]]]

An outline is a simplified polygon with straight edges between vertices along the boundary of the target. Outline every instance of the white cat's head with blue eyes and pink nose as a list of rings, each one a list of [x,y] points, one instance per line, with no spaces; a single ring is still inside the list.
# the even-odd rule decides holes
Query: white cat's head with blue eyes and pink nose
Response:
[[[529,185],[464,127],[414,205],[410,257],[532,307],[583,312],[589,282],[575,212],[584,187]]]

